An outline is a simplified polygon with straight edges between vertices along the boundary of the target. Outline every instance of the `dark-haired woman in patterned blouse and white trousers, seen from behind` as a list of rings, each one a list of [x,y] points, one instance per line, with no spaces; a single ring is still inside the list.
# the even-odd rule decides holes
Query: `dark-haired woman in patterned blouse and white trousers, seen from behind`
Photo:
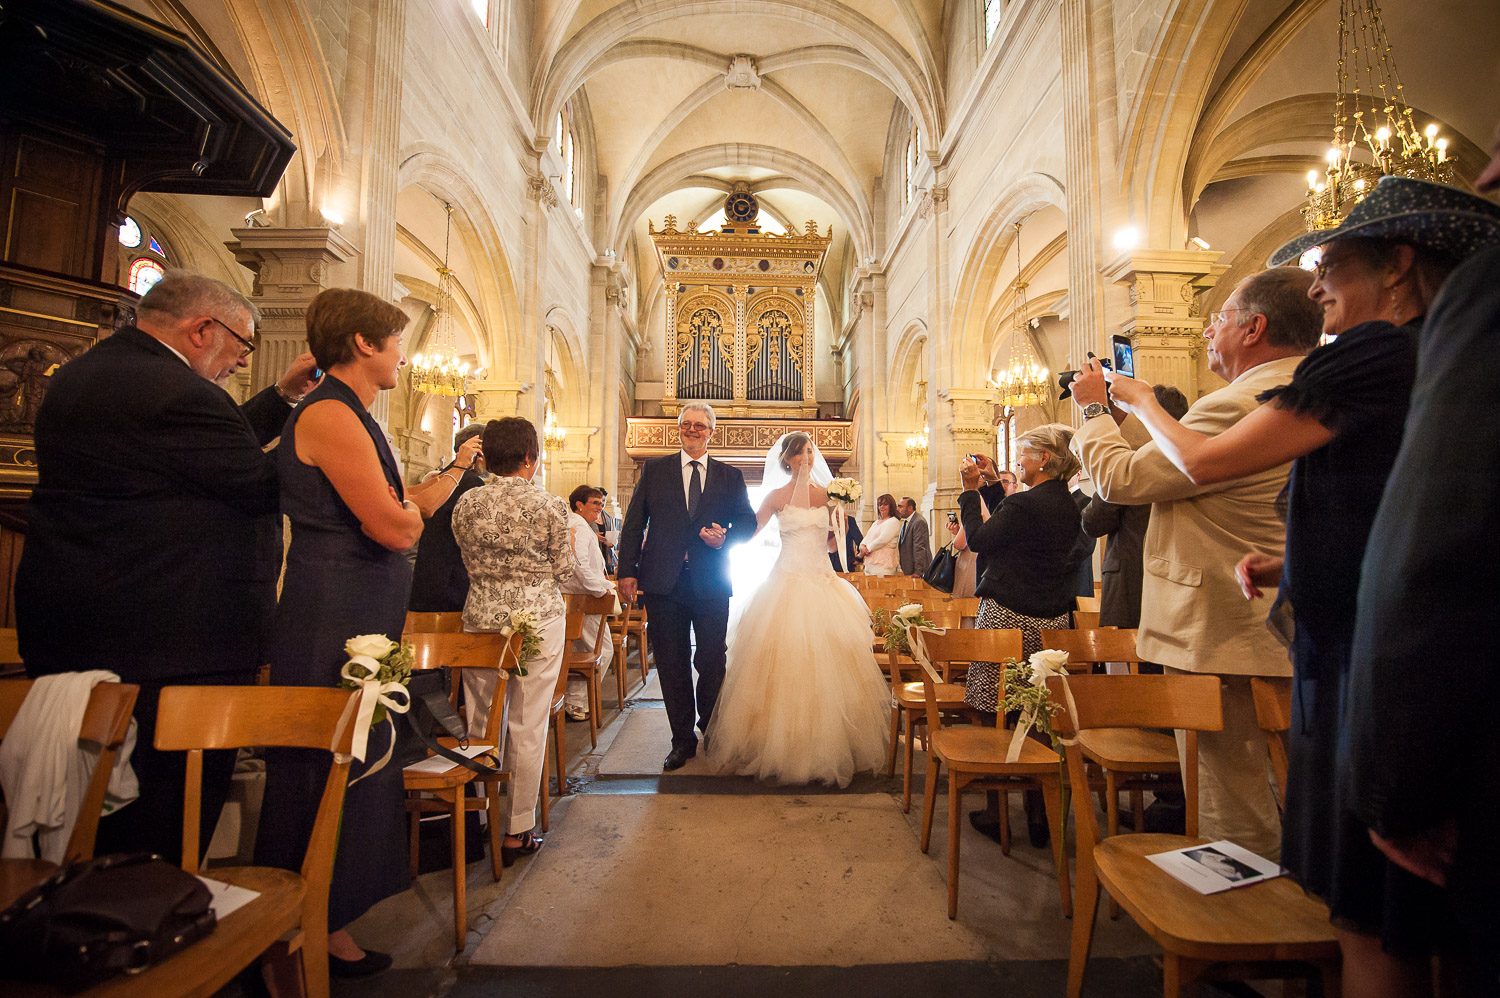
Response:
[[[548,714],[562,668],[566,609],[560,582],[573,576],[567,506],[534,486],[542,444],[531,420],[514,416],[484,428],[489,485],[470,489],[453,507],[453,537],[470,573],[464,603],[465,630],[500,630],[513,609],[537,617],[542,650],[522,665],[526,675],[507,684],[506,764],[510,768],[510,819],[501,858],[506,866],[542,848],[536,827],[548,747]],[[494,696],[494,677],[464,675],[470,731],[483,723]],[[561,776],[561,774],[560,774]]]

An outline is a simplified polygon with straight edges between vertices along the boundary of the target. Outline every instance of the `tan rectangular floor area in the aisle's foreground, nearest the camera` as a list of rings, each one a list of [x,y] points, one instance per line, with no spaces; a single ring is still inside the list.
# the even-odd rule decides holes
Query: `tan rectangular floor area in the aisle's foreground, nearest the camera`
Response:
[[[984,941],[945,914],[942,876],[885,794],[584,794],[472,963],[986,959]]]

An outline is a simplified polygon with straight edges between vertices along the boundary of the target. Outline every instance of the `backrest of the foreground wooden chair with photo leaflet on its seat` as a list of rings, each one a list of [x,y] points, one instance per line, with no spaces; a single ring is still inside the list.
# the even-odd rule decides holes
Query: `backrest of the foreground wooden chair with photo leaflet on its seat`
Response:
[[[1186,797],[1188,834],[1198,827],[1198,731],[1224,728],[1224,704],[1216,675],[1070,675],[1072,695],[1070,713],[1064,680],[1047,680],[1052,699],[1064,708],[1053,716],[1052,729],[1064,738],[1068,756],[1068,779],[1074,800],[1088,801],[1089,780],[1083,750],[1074,735],[1090,728],[1182,728],[1186,729],[1182,789]],[[1094,807],[1074,807],[1078,825],[1078,849],[1092,849],[1100,840],[1100,825]]]

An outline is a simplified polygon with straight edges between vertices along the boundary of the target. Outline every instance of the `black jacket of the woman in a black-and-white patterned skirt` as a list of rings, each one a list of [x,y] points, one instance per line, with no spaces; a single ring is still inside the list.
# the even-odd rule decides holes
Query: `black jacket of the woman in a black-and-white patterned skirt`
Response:
[[[1028,617],[1060,617],[1074,608],[1078,507],[1064,482],[1047,479],[1016,492],[986,521],[980,494],[963,492],[958,516],[969,549],[984,560],[975,594]]]

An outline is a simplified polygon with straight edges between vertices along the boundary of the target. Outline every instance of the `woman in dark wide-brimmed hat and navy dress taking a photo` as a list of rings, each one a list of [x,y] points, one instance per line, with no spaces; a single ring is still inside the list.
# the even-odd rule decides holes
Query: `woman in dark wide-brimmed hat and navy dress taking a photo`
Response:
[[[1281,863],[1332,911],[1346,995],[1432,993],[1431,954],[1448,929],[1434,884],[1390,863],[1338,792],[1359,569],[1401,446],[1422,317],[1448,273],[1500,243],[1500,209],[1437,183],[1384,177],[1336,228],[1300,236],[1272,266],[1322,248],[1308,296],[1336,338],[1292,384],[1218,437],[1182,426],[1143,381],[1116,375],[1162,452],[1197,483],[1293,461],[1286,558],[1248,552],[1234,572],[1248,599],[1280,582],[1272,617],[1294,623],[1290,773]],[[1242,317],[1254,321],[1256,317]],[[1389,695],[1400,695],[1389,690]]]

